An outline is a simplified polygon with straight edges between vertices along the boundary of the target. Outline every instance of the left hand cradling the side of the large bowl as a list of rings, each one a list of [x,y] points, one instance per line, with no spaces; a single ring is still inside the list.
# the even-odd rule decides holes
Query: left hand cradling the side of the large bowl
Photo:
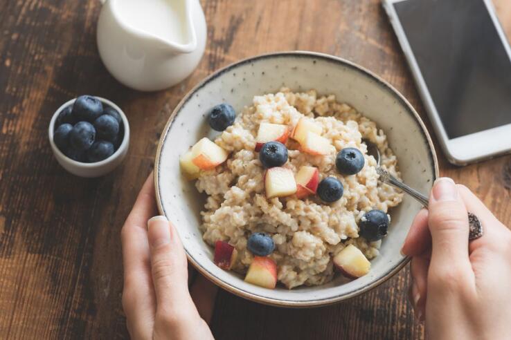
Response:
[[[181,240],[165,216],[156,214],[151,173],[121,232],[129,334],[132,339],[213,339],[206,321],[216,287],[199,275],[190,295]]]

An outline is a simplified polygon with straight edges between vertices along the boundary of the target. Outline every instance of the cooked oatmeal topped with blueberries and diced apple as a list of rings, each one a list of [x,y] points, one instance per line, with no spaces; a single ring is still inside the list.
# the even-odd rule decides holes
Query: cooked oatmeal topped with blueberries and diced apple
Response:
[[[224,245],[215,249],[215,263],[271,287],[274,283],[266,285],[264,273],[258,274],[267,270],[289,289],[327,283],[335,267],[352,278],[366,274],[386,234],[388,209],[402,200],[397,189],[378,182],[376,160],[363,142],[373,142],[380,165],[399,178],[384,132],[334,95],[314,90],[282,88],[256,95],[253,105],[235,118],[232,113],[232,119],[214,143],[204,138],[181,157],[183,171],[197,178],[197,190],[207,194],[203,238],[213,247]],[[269,145],[268,139],[276,142]],[[274,152],[276,162],[285,158],[278,167],[268,166],[264,152]],[[348,157],[344,165],[338,163],[341,153]],[[379,225],[380,236],[361,231],[371,218],[386,223],[384,230]],[[259,254],[258,245],[263,253],[269,250]],[[339,256],[343,250],[346,254]],[[223,262],[217,254],[222,252]]]

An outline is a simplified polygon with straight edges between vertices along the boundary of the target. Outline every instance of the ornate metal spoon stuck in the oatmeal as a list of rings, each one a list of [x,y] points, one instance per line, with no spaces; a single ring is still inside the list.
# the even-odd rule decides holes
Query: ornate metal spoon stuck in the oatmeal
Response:
[[[388,173],[388,171],[380,167],[379,166],[380,155],[378,147],[374,143],[369,142],[368,140],[362,140],[362,142],[367,145],[368,155],[372,155],[377,162],[376,172],[379,175],[379,180],[408,193],[410,196],[415,198],[415,200],[418,200],[425,208],[427,208],[429,198],[420,193],[419,191],[404,184],[403,182],[392,176],[390,173]],[[481,224],[481,221],[479,221],[477,216],[472,214],[471,212],[468,213],[468,217],[470,229],[469,240],[475,240],[476,238],[480,238],[481,236],[483,236],[483,225]]]

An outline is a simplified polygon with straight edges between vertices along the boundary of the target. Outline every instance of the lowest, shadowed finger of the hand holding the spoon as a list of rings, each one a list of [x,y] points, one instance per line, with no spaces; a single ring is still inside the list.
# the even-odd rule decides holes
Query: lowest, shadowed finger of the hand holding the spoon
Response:
[[[424,321],[426,312],[428,267],[428,255],[415,256],[411,260],[410,271],[413,278],[411,303],[415,310],[415,317],[419,321]]]

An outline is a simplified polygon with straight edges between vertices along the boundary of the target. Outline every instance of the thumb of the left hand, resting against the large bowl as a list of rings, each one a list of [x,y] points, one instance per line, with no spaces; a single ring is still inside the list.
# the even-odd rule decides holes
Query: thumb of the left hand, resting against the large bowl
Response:
[[[156,313],[169,322],[198,317],[188,292],[186,255],[176,230],[165,216],[151,218],[147,230]]]

